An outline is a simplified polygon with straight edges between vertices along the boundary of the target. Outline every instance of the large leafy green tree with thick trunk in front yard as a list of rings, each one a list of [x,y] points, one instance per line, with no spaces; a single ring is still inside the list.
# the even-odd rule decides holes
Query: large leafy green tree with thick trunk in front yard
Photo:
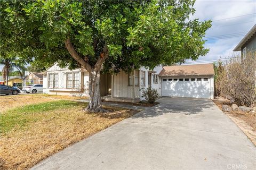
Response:
[[[89,111],[102,111],[100,73],[131,71],[140,66],[196,60],[208,52],[203,37],[210,21],[190,20],[194,1],[28,1],[14,11],[29,25],[22,25],[33,49],[26,60],[58,62],[70,69],[85,68],[90,75]],[[7,22],[7,21],[6,21]],[[31,41],[32,40],[32,41]],[[34,40],[34,41],[33,41]],[[31,52],[30,52],[31,53]],[[23,57],[23,56],[22,56]]]

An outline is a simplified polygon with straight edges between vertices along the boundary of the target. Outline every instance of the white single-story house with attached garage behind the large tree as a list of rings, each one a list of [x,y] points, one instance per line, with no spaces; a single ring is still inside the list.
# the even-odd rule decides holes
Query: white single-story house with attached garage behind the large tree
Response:
[[[69,70],[55,63],[41,74],[45,94],[74,95],[83,84],[89,96],[89,73],[84,69]],[[150,86],[161,96],[213,98],[213,75],[213,64],[141,67],[131,73],[101,74],[100,94],[103,100],[136,103]]]

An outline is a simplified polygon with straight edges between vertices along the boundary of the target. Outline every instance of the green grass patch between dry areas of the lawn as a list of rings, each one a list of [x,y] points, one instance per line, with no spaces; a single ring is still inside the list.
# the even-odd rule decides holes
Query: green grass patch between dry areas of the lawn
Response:
[[[51,111],[78,106],[79,103],[69,100],[49,101],[45,103],[9,109],[0,115],[0,132],[6,134],[12,129],[23,129],[29,123],[53,116]]]

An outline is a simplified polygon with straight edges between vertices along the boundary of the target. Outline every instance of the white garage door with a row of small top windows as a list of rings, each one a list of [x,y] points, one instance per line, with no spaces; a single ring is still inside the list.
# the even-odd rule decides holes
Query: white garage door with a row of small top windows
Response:
[[[162,78],[162,96],[210,98],[210,78]]]

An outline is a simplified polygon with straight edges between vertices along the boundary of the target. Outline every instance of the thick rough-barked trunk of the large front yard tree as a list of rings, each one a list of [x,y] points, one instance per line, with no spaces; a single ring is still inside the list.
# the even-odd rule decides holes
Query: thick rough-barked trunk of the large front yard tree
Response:
[[[91,70],[89,73],[89,104],[86,108],[90,112],[106,112],[102,108],[100,98],[100,71]]]

